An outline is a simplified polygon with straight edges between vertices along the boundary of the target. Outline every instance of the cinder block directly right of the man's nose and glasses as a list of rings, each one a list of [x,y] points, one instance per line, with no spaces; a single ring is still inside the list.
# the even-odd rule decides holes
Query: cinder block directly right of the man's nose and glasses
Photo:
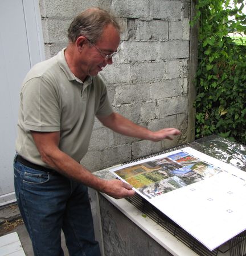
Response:
[[[125,62],[130,61],[155,61],[158,59],[158,42],[122,42],[122,55]]]

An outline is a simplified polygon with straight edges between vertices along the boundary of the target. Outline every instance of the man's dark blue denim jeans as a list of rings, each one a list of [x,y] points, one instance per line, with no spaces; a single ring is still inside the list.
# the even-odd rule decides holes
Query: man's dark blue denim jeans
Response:
[[[24,166],[16,159],[14,184],[35,256],[63,256],[62,230],[69,255],[100,255],[87,186],[59,173]]]

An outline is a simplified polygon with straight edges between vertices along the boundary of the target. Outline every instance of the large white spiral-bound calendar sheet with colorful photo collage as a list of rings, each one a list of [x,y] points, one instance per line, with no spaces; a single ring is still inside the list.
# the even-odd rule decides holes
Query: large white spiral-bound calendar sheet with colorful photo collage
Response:
[[[191,147],[110,171],[210,250],[246,229],[246,173]]]

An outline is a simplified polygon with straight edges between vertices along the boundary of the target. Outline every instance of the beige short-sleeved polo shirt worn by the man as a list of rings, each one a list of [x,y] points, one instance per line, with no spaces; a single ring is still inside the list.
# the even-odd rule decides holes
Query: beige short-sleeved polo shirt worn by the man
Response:
[[[113,112],[100,75],[81,82],[69,69],[64,50],[32,67],[20,91],[16,150],[46,167],[30,130],[60,131],[60,150],[79,162],[87,153],[95,115]]]

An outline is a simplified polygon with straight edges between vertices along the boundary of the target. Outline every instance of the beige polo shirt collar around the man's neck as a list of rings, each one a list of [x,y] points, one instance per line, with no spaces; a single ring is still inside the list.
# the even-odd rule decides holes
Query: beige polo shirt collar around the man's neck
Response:
[[[72,73],[72,71],[69,69],[67,61],[65,60],[64,51],[66,48],[63,48],[62,51],[58,53],[58,63],[60,68],[64,71],[65,75],[67,75],[67,78],[69,81],[76,80],[77,82],[81,83],[82,85],[88,86],[92,83],[92,77],[89,75],[87,78],[85,78],[85,81],[82,82],[79,78],[75,77],[75,75]]]

